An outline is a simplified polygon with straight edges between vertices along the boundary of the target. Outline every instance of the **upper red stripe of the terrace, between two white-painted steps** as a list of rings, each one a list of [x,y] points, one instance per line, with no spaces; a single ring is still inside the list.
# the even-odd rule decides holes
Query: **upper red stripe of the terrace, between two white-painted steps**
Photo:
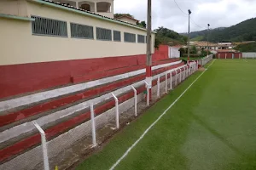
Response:
[[[180,66],[180,65],[183,65],[183,63],[177,64],[177,65],[171,65],[171,66],[168,66],[165,68],[160,68],[158,70],[153,71],[153,75],[160,74],[161,72],[168,71],[168,70],[175,68],[177,66]],[[75,101],[78,101],[79,99],[90,98],[90,97],[95,96],[96,94],[102,94],[103,92],[112,91],[114,88],[124,87],[133,82],[139,82],[139,81],[143,80],[144,78],[145,78],[144,75],[139,75],[137,77],[131,77],[129,79],[122,80],[120,82],[114,82],[114,83],[108,84],[103,87],[86,90],[79,94],[74,94],[74,95],[67,96],[67,97],[64,97],[61,99],[51,100],[51,101],[46,102],[41,105],[35,105],[35,106],[32,106],[25,110],[15,111],[15,112],[9,113],[8,115],[0,116],[0,127],[7,125],[9,123],[12,123],[12,122],[20,121],[29,116],[38,115],[44,111],[49,111],[49,110],[55,109],[55,108],[63,106],[63,105],[71,104]]]

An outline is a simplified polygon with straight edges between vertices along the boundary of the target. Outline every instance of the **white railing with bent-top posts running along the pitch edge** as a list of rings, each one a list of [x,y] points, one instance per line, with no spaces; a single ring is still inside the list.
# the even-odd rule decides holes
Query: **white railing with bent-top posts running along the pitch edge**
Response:
[[[195,71],[197,71],[197,63],[196,62],[191,62],[189,65],[182,65],[179,66],[175,69],[165,71],[160,73],[159,75],[156,75],[153,77],[153,80],[157,80],[157,97],[160,97],[160,77],[166,77],[166,82],[170,81],[170,88],[168,89],[167,87],[167,92],[168,90],[172,90],[172,83],[174,82],[175,86],[177,86],[178,82],[184,81],[187,77],[189,77],[191,74],[193,74]],[[179,72],[178,72],[179,71]],[[176,75],[175,77],[172,76],[172,72],[175,72]],[[170,74],[170,80],[168,79],[168,75]],[[177,79],[179,80],[177,82]],[[163,83],[166,83],[163,82]],[[149,94],[149,88],[148,88],[148,83],[143,81],[144,84],[146,84],[147,88],[147,93]],[[167,83],[166,83],[167,84]],[[140,84],[142,85],[142,84]],[[139,87],[139,86],[137,86]],[[135,107],[135,116],[137,116],[137,89],[135,88],[134,85],[131,85],[130,90],[132,89],[134,92],[134,107]],[[163,88],[163,87],[162,87]],[[118,95],[116,92],[111,93],[112,98],[115,101],[115,124],[116,124],[116,129],[119,129],[119,99]],[[91,125],[91,143],[92,147],[96,147],[97,142],[96,142],[96,116],[95,116],[95,111],[94,111],[94,105],[96,103],[90,102],[90,125]],[[147,105],[149,105],[149,95],[147,95]],[[42,149],[43,149],[43,156],[42,160],[44,161],[44,170],[49,170],[49,156],[48,156],[48,145],[46,142],[46,136],[44,133],[44,130],[38,125],[37,122],[33,122],[34,126],[38,129],[39,133],[41,134],[41,142],[42,142]]]

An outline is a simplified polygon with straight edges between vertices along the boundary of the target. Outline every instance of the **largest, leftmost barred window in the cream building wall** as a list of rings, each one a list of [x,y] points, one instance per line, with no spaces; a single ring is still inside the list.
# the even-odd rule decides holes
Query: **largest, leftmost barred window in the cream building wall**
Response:
[[[67,37],[67,22],[32,16],[32,34]]]

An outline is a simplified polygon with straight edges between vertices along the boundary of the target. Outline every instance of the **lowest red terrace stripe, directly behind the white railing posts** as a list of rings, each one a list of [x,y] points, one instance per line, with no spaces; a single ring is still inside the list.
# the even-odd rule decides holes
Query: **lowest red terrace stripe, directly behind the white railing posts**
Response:
[[[172,72],[173,74],[173,72]],[[165,81],[165,77],[160,78],[160,82]],[[152,85],[155,86],[157,84],[157,80],[154,80],[152,82]],[[143,93],[145,91],[145,87],[141,86],[137,88],[137,94]],[[119,103],[123,103],[128,99],[131,99],[133,97],[133,92],[131,91],[130,93],[124,94],[122,96],[119,96]],[[109,101],[108,103],[101,105],[95,109],[96,115],[102,114],[104,111],[108,111],[108,109],[113,108],[115,105],[114,101]],[[90,112],[86,112],[82,115],[75,116],[72,119],[66,121],[66,122],[61,122],[58,125],[55,125],[54,127],[49,127],[47,130],[45,130],[46,133],[46,138],[47,139],[52,139],[56,135],[60,133],[66,132],[68,129],[78,126],[82,122],[88,121],[90,119]],[[4,161],[9,159],[11,156],[15,156],[16,154],[20,153],[21,151],[27,150],[30,147],[39,144],[40,143],[40,135],[39,134],[34,134],[29,138],[23,139],[18,143],[15,143],[13,145],[10,145],[2,150],[0,150],[0,161]]]

